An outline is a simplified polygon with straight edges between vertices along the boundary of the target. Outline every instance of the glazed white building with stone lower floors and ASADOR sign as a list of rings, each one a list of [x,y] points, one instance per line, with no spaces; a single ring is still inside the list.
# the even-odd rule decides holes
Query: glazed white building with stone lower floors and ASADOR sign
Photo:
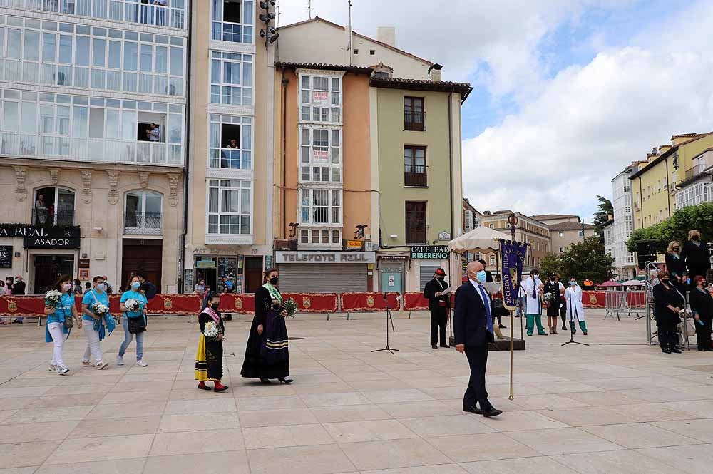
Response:
[[[6,5],[7,2],[2,2]],[[185,1],[0,6],[0,246],[27,293],[58,275],[179,278]]]

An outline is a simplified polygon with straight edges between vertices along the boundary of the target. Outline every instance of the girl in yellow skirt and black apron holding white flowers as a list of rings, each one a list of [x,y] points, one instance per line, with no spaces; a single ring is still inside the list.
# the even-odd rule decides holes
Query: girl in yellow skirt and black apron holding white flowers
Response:
[[[206,381],[212,381],[213,390],[222,392],[227,390],[227,386],[220,383],[222,379],[222,339],[225,334],[222,317],[218,306],[220,296],[215,293],[208,295],[208,306],[198,315],[200,324],[200,339],[198,339],[198,351],[195,353],[195,379],[198,381],[198,388],[210,390],[205,385]],[[205,326],[208,323],[217,326],[217,335],[206,336]]]

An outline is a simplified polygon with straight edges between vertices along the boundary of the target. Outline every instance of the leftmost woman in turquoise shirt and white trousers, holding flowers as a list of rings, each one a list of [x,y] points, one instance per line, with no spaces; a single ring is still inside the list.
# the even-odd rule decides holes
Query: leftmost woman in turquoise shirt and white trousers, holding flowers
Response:
[[[79,319],[76,306],[74,306],[72,277],[67,274],[62,275],[53,289],[60,292],[61,296],[56,304],[45,300],[44,314],[47,316],[45,342],[54,343],[49,370],[59,375],[66,375],[69,372],[69,367],[64,364],[64,359],[62,358],[64,341],[69,337],[69,328],[66,321],[76,321],[79,329],[82,329],[82,321]]]

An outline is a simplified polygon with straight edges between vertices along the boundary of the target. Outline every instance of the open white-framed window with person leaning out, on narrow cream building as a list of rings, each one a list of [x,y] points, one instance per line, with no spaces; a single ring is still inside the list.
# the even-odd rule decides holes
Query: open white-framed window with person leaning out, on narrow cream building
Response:
[[[210,115],[210,168],[252,170],[252,118]]]

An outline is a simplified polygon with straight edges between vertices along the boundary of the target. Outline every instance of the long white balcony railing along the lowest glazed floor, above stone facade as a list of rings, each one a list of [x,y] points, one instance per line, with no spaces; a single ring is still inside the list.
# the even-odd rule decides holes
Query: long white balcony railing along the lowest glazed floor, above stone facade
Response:
[[[1,134],[0,155],[103,163],[183,165],[183,145],[105,138],[69,138],[53,135]]]

